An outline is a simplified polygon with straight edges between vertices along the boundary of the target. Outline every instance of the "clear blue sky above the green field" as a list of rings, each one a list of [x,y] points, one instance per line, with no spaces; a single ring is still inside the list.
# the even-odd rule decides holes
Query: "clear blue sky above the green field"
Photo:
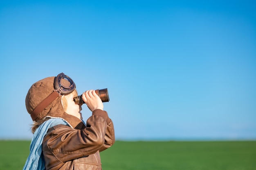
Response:
[[[61,72],[108,88],[117,139],[256,139],[255,6],[1,1],[0,139],[31,138],[27,91]]]

